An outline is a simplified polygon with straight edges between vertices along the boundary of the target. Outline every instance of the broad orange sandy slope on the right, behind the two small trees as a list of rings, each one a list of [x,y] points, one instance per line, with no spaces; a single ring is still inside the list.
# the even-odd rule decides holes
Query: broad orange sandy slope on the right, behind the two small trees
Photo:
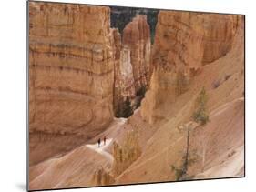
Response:
[[[189,168],[189,175],[198,175],[200,178],[243,176],[244,68],[242,53],[243,38],[242,34],[238,34],[231,51],[210,65],[204,66],[202,73],[191,82],[189,91],[179,96],[175,104],[165,103],[159,106],[159,115],[166,116],[166,123],[159,126],[156,133],[148,140],[142,156],[118,177],[117,183],[175,179],[170,166],[180,167],[186,145],[186,132],[179,130],[179,126],[191,120],[194,100],[202,86],[205,87],[209,97],[207,108],[210,113],[210,123],[203,128],[198,128],[199,135],[194,134],[194,140],[201,141],[200,132],[205,129],[207,130],[206,142],[210,144],[207,149],[205,169],[199,168],[201,165],[198,157],[194,167]],[[220,82],[217,88],[213,86],[216,81]],[[191,145],[194,145],[193,141]],[[208,172],[200,175],[205,170]]]

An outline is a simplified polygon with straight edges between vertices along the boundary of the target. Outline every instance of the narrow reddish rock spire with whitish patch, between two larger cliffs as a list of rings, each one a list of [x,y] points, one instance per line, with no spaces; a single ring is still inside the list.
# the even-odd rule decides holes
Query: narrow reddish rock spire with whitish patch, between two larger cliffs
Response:
[[[151,42],[147,15],[134,17],[125,26],[122,37],[117,29],[113,34],[116,47],[114,108],[116,116],[123,116],[127,99],[132,108],[138,107],[149,82]]]

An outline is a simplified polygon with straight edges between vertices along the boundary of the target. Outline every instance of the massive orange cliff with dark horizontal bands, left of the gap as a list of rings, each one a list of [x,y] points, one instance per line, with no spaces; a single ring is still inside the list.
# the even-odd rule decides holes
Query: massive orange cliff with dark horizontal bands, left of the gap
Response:
[[[40,132],[55,137],[86,134],[85,141],[112,121],[109,15],[109,8],[102,6],[29,2],[31,140]],[[40,142],[44,144],[36,144]],[[59,149],[50,150],[48,156]],[[33,162],[33,148],[30,152]],[[46,157],[40,156],[37,161]]]

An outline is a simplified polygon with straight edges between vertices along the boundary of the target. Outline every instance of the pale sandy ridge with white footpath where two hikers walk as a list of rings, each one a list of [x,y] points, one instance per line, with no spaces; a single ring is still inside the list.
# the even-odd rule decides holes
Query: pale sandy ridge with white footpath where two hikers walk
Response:
[[[111,167],[113,157],[109,154],[108,147],[113,139],[118,136],[126,119],[115,119],[104,136],[107,136],[106,146],[97,147],[97,138],[92,139],[81,147],[77,147],[64,156],[51,158],[29,169],[29,188],[46,189],[57,187],[83,187],[87,186],[92,173],[97,167]],[[109,133],[109,130],[113,134]]]

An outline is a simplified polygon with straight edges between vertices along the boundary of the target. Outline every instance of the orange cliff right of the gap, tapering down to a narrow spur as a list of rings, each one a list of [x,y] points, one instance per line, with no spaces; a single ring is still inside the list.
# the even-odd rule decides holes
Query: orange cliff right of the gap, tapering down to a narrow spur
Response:
[[[239,15],[160,11],[152,51],[150,87],[142,101],[141,115],[156,121],[156,108],[189,88],[202,66],[225,56],[233,43]],[[154,117],[155,116],[155,117]]]

